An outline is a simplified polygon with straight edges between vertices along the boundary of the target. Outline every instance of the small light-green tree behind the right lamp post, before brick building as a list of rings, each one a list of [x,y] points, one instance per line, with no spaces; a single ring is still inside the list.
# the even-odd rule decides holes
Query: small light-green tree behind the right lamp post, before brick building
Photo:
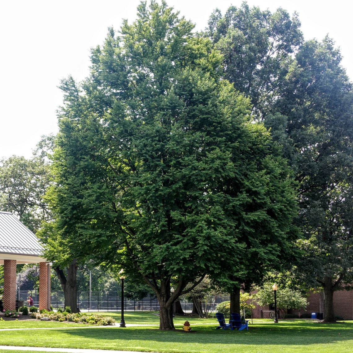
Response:
[[[274,302],[274,292],[271,283],[265,283],[258,292],[254,294],[257,304],[261,306],[271,305]],[[289,288],[280,288],[276,293],[277,309],[282,312],[282,317],[285,318],[287,309],[306,309],[307,300],[299,291]]]

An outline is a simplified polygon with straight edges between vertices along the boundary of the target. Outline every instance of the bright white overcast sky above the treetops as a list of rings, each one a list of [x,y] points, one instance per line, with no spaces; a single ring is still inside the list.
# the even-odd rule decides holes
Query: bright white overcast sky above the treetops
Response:
[[[41,136],[57,133],[62,103],[60,80],[89,74],[90,48],[102,44],[107,28],[136,19],[139,0],[4,0],[0,4],[0,159],[30,158]],[[241,0],[167,0],[203,30],[215,8],[225,13]],[[351,1],[249,0],[249,6],[299,13],[305,40],[329,34],[340,47],[342,66],[353,80]]]

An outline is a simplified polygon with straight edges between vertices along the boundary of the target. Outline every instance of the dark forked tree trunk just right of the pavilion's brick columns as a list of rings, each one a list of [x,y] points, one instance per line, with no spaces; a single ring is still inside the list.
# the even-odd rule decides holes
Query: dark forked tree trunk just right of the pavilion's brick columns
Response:
[[[54,270],[59,277],[62,290],[64,291],[64,306],[70,306],[72,312],[80,312],[77,307],[76,259],[73,259],[72,263],[67,268],[67,277],[65,277],[64,272],[59,269],[59,267],[55,267]]]

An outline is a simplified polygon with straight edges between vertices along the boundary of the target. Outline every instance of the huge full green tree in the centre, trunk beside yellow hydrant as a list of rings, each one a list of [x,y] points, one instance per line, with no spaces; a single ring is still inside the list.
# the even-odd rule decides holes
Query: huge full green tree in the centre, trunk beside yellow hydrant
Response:
[[[295,213],[268,131],[223,79],[219,51],[192,29],[165,2],[142,2],[132,25],[92,50],[90,77],[62,82],[48,193],[67,256],[138,273],[157,296],[162,330],[205,274],[246,268],[243,232],[249,247],[261,234],[278,241],[254,256],[280,255],[291,227],[281,225]]]

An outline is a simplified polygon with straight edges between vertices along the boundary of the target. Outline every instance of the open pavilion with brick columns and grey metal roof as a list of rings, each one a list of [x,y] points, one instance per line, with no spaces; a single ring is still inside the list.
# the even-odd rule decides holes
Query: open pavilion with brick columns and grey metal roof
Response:
[[[36,235],[16,216],[0,211],[0,264],[4,265],[4,309],[16,308],[16,264],[39,263],[39,309],[50,310],[50,263]]]

